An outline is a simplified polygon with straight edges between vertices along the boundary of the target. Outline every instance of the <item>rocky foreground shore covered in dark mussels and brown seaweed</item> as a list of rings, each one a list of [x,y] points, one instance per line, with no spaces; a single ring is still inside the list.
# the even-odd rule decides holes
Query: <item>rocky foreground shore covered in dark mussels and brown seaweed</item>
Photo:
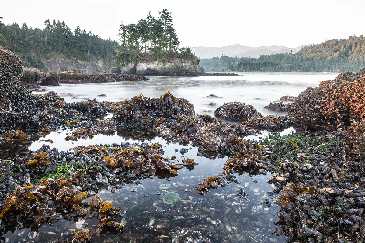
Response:
[[[289,115],[285,116],[264,117],[251,105],[224,103],[216,109],[216,117],[239,122],[228,124],[209,115],[196,114],[193,104],[169,92],[160,98],[140,94],[116,103],[96,100],[66,103],[53,91],[34,95],[19,87],[23,69],[18,58],[4,49],[0,51],[1,59],[7,59],[8,65],[0,70],[1,86],[7,87],[0,91],[1,148],[27,140],[27,133],[49,133],[64,126],[73,130],[66,140],[92,139],[96,134],[114,134],[116,131],[153,133],[168,142],[190,144],[198,149],[200,156],[211,159],[228,156],[222,172],[197,185],[198,196],[203,197],[217,187],[228,187],[235,180],[235,174],[253,176],[271,172],[268,183],[276,186],[272,193],[278,195],[276,203],[281,206],[280,220],[275,222],[276,230],[272,234],[285,235],[287,242],[363,242],[365,69],[342,73],[332,81],[306,89],[287,107]],[[74,75],[58,74],[60,79],[62,76],[70,82],[76,77],[82,77],[82,82],[100,78],[99,74]],[[29,76],[33,79],[33,75]],[[111,80],[115,76],[105,77]],[[109,113],[113,118],[104,118]],[[299,128],[297,133],[276,134],[258,141],[244,138],[260,134],[264,129],[280,131],[291,125]],[[110,202],[101,200],[96,192],[103,188],[116,191],[126,184],[141,183],[138,179],[143,178],[169,179],[178,175],[179,169],[191,169],[198,163],[189,158],[177,161],[165,157],[160,144],[143,142],[76,146],[66,152],[43,145],[37,151],[0,161],[3,175],[0,192],[4,197],[1,200],[0,234],[9,230],[12,224],[23,227],[20,222],[27,225],[33,222],[40,227],[62,217],[82,218],[87,212],[91,215],[94,212],[92,217],[99,219],[94,230],[86,226],[78,231],[67,229],[61,235],[62,242],[87,242],[107,232],[122,233],[128,227],[125,214]],[[165,200],[175,204],[180,200],[176,194],[168,194],[170,198]],[[233,200],[246,200],[247,195],[241,190],[232,197]],[[182,201],[181,208],[190,207],[191,204],[186,203],[184,206]],[[274,202],[262,202],[267,207],[271,203]],[[234,202],[229,206],[227,213],[245,207]],[[185,212],[189,209],[176,210]],[[211,208],[202,210],[211,217],[226,214]],[[188,212],[166,217],[171,222],[200,219],[200,215]],[[208,219],[209,224],[220,224],[223,229],[206,227],[204,234],[197,234],[193,228],[189,231],[177,227],[167,236],[163,223],[156,225],[151,219],[146,227],[154,232],[164,232],[162,236],[166,238],[154,242],[168,239],[201,243],[213,238],[220,242],[242,241],[244,235],[237,228],[234,230],[227,222],[223,225]],[[229,235],[218,234],[223,230]],[[128,234],[123,237],[124,240],[136,240]]]

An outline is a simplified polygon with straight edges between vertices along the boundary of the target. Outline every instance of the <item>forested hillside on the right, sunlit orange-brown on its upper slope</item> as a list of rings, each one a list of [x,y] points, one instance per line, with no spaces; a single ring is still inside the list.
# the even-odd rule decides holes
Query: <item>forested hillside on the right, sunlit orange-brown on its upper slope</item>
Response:
[[[365,67],[365,38],[350,36],[347,39],[327,40],[321,44],[303,47],[296,54],[261,55],[259,58],[201,59],[205,71],[236,72],[344,72]]]

